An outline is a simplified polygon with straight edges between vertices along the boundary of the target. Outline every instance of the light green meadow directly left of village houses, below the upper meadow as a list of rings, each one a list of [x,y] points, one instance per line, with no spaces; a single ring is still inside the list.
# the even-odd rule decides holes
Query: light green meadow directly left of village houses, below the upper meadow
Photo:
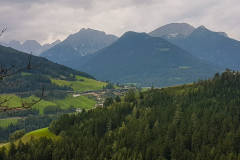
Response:
[[[82,109],[90,109],[96,104],[94,99],[88,99],[85,96],[72,97],[70,95],[63,100],[55,100],[53,103],[61,106],[62,108],[67,108],[70,105],[73,105],[75,108]]]

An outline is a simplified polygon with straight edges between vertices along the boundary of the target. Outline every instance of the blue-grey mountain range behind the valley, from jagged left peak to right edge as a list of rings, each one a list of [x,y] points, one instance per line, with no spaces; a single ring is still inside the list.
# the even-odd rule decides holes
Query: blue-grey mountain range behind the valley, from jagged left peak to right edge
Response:
[[[119,39],[83,28],[40,56],[100,80],[170,86],[206,79],[225,68],[239,69],[240,42],[225,32],[187,23],[167,24],[148,34],[126,32]]]

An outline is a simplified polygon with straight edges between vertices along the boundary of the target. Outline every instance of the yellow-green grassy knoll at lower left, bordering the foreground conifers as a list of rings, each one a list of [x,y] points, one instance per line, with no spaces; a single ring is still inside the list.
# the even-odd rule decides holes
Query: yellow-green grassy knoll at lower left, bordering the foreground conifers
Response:
[[[25,134],[21,138],[21,140],[22,140],[23,143],[26,143],[26,142],[30,141],[31,137],[33,137],[34,139],[39,139],[41,137],[51,138],[52,140],[61,140],[62,139],[60,136],[56,136],[52,132],[48,131],[48,128],[42,128],[42,129],[38,129],[38,130],[35,130],[35,131],[32,131],[32,132],[29,132],[29,133]],[[14,141],[13,143],[15,145],[17,145],[19,140]],[[4,146],[6,148],[8,148],[9,143],[5,144]]]

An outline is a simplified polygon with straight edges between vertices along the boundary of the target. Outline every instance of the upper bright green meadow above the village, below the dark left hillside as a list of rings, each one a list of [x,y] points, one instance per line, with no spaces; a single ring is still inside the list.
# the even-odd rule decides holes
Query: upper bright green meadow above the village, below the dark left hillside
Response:
[[[87,90],[100,90],[103,86],[106,86],[107,83],[96,81],[93,79],[75,76],[78,81],[65,81],[60,79],[51,78],[52,83],[55,83],[60,86],[71,86],[74,91],[87,91]],[[84,81],[79,81],[79,79],[83,79]]]

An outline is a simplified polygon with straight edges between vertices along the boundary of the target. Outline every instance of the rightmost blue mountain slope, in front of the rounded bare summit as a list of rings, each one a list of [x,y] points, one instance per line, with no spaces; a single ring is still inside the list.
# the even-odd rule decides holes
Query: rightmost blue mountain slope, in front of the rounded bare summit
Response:
[[[212,32],[200,26],[187,37],[164,38],[198,58],[230,69],[240,69],[240,42],[228,38],[226,33]]]

